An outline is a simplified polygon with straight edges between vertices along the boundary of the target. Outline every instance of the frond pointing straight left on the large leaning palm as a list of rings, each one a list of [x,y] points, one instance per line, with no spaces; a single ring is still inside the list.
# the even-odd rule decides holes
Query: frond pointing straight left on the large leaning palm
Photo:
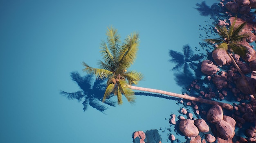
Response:
[[[83,69],[83,72],[87,72],[88,74],[93,74],[94,76],[100,79],[106,78],[110,74],[112,74],[112,72],[106,69],[98,69],[98,68],[90,67],[85,62],[83,62],[83,66],[85,66],[85,68]]]

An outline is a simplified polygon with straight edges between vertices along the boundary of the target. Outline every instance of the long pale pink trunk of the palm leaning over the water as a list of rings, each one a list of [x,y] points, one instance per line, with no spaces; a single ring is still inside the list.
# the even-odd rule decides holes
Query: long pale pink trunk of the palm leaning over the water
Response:
[[[187,100],[192,100],[192,101],[207,103],[207,104],[212,104],[212,105],[218,104],[222,108],[226,108],[228,110],[233,110],[233,106],[230,105],[230,104],[227,104],[227,103],[221,103],[221,102],[206,100],[206,99],[202,99],[202,98],[195,98],[195,97],[188,96],[188,95],[182,95],[182,94],[177,94],[177,93],[172,93],[172,92],[167,92],[167,91],[162,91],[162,90],[157,90],[157,89],[149,89],[149,88],[144,88],[144,87],[135,87],[135,86],[132,86],[132,85],[129,85],[129,88],[134,89],[134,90],[148,91],[148,92],[170,95],[170,96],[174,96],[174,97],[177,97],[177,98],[183,98],[183,99],[187,99]]]

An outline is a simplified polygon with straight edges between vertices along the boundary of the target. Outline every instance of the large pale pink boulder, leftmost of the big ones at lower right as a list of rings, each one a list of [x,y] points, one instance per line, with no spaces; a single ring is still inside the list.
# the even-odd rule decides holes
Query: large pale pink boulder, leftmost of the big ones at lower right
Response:
[[[191,119],[183,119],[180,121],[180,131],[186,137],[196,137],[199,134],[198,128],[194,125],[194,120]]]

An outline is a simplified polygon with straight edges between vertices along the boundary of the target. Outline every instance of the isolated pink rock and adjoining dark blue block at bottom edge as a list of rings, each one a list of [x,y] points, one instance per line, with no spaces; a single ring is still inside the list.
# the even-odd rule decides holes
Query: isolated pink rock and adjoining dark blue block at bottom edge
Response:
[[[158,130],[137,131],[133,133],[133,143],[162,143]]]

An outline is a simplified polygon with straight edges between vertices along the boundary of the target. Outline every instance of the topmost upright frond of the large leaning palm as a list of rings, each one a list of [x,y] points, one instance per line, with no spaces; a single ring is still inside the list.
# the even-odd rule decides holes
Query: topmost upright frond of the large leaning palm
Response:
[[[117,29],[115,29],[113,26],[107,27],[107,29],[108,46],[112,55],[114,56],[114,61],[116,63],[121,44],[120,35],[117,33]]]

